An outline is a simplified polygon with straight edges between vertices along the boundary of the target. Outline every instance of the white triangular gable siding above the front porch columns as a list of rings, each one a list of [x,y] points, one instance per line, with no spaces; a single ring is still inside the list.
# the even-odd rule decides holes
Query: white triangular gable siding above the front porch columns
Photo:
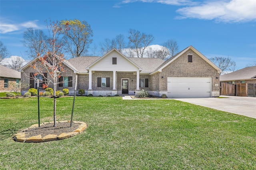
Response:
[[[116,64],[112,64],[112,58],[116,57]],[[137,71],[139,68],[133,63],[125,59],[122,55],[116,51],[108,54],[100,61],[90,66],[92,71]]]

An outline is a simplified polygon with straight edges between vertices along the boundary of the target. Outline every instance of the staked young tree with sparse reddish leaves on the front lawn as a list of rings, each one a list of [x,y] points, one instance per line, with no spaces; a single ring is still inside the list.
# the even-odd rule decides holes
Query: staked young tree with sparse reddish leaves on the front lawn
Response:
[[[50,23],[47,25],[50,38],[48,41],[44,42],[44,50],[37,54],[38,59],[34,59],[34,61],[30,64],[30,66],[34,69],[34,75],[30,78],[34,78],[35,80],[43,84],[43,88],[48,87],[49,84],[53,85],[54,96],[56,96],[56,88],[58,83],[58,78],[65,71],[64,64],[65,59],[63,55],[63,37],[60,37],[62,32],[62,28],[58,24],[58,21]],[[46,74],[47,76],[46,76]],[[38,78],[38,76],[43,77],[42,79]],[[54,98],[53,102],[53,115],[54,115],[54,126],[56,126],[56,98]]]

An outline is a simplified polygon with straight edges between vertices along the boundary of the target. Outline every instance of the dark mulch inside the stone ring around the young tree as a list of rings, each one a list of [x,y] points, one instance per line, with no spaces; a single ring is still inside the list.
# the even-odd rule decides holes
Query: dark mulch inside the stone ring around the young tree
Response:
[[[56,127],[53,126],[54,123],[49,123],[46,125],[40,125],[40,127],[36,127],[25,131],[26,137],[32,137],[36,135],[42,135],[42,137],[50,134],[60,135],[62,133],[73,132],[80,125],[79,123],[72,123],[70,127],[70,122],[67,123],[56,123]]]

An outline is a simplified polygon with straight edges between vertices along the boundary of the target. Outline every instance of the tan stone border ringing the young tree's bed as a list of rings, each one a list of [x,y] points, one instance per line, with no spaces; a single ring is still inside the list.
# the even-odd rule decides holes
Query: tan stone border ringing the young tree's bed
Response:
[[[70,121],[56,121],[56,123],[67,123],[67,122],[70,122]],[[45,124],[49,124],[49,123],[53,123],[53,121],[52,122],[44,122],[40,125],[45,125]],[[78,128],[76,130],[74,130],[73,132],[62,133],[60,135],[49,134],[49,135],[46,135],[45,137],[42,137],[42,135],[36,135],[36,136],[28,137],[28,138],[25,137],[25,131],[28,131],[30,129],[38,127],[38,124],[34,124],[26,129],[22,130],[21,133],[15,134],[13,137],[13,140],[16,142],[23,142],[23,143],[40,143],[40,142],[48,142],[48,141],[57,141],[57,140],[67,139],[67,138],[73,137],[75,135],[78,135],[78,134],[82,133],[87,128],[87,124],[84,123],[83,121],[72,121],[72,123],[80,124],[78,126]]]

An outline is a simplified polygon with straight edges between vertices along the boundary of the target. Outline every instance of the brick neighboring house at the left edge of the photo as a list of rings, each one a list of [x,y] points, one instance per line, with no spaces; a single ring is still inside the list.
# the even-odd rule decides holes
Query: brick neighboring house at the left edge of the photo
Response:
[[[0,92],[10,92],[13,86],[20,88],[20,72],[0,65]]]

